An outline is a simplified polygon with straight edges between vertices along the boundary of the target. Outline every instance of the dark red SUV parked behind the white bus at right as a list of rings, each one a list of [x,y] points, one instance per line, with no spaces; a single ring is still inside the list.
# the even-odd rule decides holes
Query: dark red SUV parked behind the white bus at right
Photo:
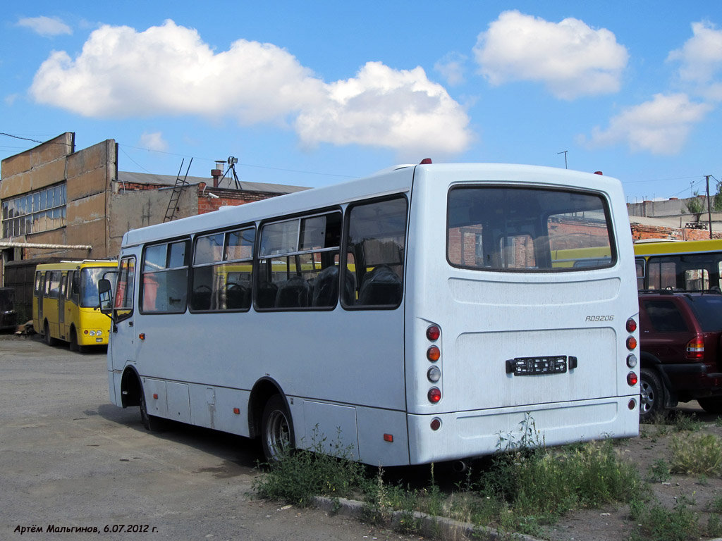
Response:
[[[722,294],[640,291],[640,418],[697,400],[722,413]]]

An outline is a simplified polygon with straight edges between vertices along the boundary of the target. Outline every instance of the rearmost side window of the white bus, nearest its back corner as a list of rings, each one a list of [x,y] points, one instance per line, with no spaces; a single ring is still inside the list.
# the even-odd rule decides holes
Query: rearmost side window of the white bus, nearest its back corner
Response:
[[[396,197],[349,206],[345,275],[354,276],[354,299],[344,307],[393,308],[404,293],[406,198]],[[344,279],[344,284],[348,278]]]

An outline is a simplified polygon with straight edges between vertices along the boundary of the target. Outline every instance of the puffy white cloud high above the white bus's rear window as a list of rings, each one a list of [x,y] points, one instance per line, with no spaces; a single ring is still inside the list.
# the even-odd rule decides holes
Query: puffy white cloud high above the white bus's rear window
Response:
[[[617,92],[629,58],[609,30],[573,18],[547,22],[516,10],[503,12],[479,34],[474,54],[491,84],[541,82],[564,100]]]

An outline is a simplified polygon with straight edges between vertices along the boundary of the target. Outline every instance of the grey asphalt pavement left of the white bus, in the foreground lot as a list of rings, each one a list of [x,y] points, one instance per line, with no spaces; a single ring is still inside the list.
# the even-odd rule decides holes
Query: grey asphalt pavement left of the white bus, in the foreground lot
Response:
[[[0,540],[411,539],[259,501],[261,459],[239,436],[147,432],[110,404],[104,351],[0,335]]]

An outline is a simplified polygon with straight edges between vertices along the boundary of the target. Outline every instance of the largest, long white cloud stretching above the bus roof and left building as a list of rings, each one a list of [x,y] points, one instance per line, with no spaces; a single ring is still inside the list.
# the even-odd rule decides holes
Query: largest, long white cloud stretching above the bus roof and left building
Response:
[[[326,84],[286,50],[237,40],[215,52],[171,20],[136,32],[105,25],[71,58],[54,51],[35,74],[35,100],[94,118],[203,115],[297,128],[303,144],[464,150],[469,119],[421,68],[368,63]],[[295,122],[293,119],[295,118]]]

